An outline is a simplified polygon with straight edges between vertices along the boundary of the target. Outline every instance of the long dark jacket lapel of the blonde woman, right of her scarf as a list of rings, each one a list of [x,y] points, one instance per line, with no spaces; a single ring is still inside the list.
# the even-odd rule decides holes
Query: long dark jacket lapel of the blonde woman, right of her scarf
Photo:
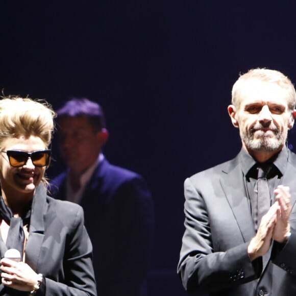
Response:
[[[38,203],[37,203],[38,201]],[[46,188],[39,185],[32,204],[29,237],[25,249],[26,263],[36,270],[44,238],[43,215],[46,207]]]

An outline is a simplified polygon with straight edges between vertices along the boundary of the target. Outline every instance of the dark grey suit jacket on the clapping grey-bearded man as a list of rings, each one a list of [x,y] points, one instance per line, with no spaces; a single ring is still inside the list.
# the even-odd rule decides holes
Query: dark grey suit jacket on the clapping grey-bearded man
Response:
[[[291,236],[273,243],[261,274],[262,257],[250,262],[255,236],[242,171],[235,159],[185,181],[185,233],[178,273],[186,290],[209,295],[296,295],[296,156],[289,152],[281,184],[289,186]]]

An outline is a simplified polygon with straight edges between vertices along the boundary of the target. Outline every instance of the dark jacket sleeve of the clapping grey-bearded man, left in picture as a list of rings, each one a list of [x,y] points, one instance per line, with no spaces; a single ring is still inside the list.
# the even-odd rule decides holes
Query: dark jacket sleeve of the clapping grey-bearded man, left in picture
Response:
[[[178,274],[185,289],[189,293],[220,291],[258,278],[262,260],[250,261],[249,242],[234,245],[223,252],[214,250],[208,205],[190,179],[185,181],[184,186],[185,233]]]

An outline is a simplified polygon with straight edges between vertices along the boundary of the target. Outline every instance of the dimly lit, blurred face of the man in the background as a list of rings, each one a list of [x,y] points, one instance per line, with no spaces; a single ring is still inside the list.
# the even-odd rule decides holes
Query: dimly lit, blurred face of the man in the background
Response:
[[[102,132],[94,132],[86,116],[59,119],[61,156],[71,170],[83,172],[94,163],[105,141]]]

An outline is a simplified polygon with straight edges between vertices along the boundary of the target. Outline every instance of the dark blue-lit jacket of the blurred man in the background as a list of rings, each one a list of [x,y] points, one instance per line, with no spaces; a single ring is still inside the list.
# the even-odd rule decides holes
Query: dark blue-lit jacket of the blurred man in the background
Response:
[[[52,181],[55,198],[65,198],[65,181],[66,172]],[[98,295],[146,295],[154,207],[143,179],[104,159],[86,186],[81,206],[93,244]]]

